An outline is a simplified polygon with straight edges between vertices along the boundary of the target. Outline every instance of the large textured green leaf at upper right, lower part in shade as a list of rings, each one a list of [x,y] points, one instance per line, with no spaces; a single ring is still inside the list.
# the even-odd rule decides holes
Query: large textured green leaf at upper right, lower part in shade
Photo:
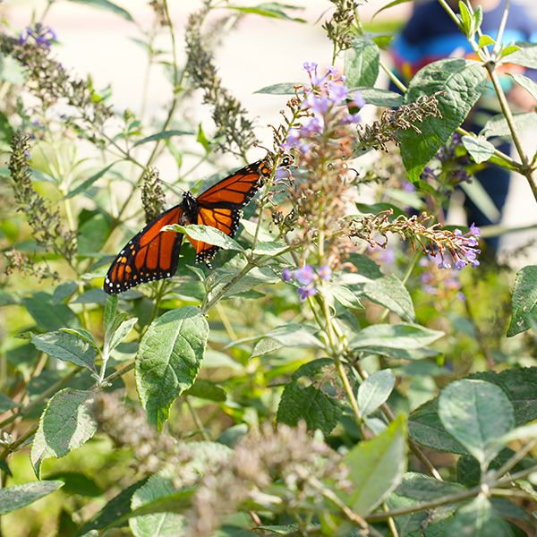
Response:
[[[441,92],[437,98],[441,117],[426,117],[413,129],[398,132],[401,157],[411,181],[418,181],[424,166],[447,142],[481,96],[487,77],[482,65],[472,60],[449,58],[426,65],[413,77],[405,93],[405,104],[422,95]]]

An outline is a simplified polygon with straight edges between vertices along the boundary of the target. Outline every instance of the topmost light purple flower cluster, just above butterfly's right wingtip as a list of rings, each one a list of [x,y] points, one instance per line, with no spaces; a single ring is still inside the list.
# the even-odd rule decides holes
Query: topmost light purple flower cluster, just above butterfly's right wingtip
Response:
[[[311,86],[304,87],[303,110],[310,115],[299,128],[289,131],[283,144],[284,149],[298,149],[303,154],[311,149],[319,134],[326,131],[327,125],[358,123],[360,115],[352,114],[349,109],[360,109],[365,105],[359,91],[349,92],[344,84],[345,77],[338,75],[335,67],[328,66],[322,76],[313,62],[306,62],[304,69]]]

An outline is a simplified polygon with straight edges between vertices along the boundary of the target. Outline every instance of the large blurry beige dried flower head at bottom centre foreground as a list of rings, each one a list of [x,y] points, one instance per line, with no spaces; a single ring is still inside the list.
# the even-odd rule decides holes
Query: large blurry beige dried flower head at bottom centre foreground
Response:
[[[305,423],[292,428],[279,425],[274,430],[265,423],[260,432],[251,432],[234,448],[233,456],[200,481],[192,509],[187,513],[189,535],[209,537],[222,518],[247,499],[278,501],[278,511],[309,505],[322,508],[319,482],[329,480],[340,490],[349,482],[341,456],[324,442],[311,437]],[[283,494],[264,494],[272,483],[281,482]]]

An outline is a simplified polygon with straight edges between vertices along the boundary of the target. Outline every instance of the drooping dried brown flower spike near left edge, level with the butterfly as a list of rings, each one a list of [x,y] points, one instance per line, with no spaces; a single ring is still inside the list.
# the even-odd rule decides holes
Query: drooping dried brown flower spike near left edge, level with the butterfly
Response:
[[[36,242],[72,260],[76,252],[76,234],[64,228],[58,209],[36,192],[31,183],[29,137],[15,132],[11,143],[9,171],[17,210],[24,213]]]

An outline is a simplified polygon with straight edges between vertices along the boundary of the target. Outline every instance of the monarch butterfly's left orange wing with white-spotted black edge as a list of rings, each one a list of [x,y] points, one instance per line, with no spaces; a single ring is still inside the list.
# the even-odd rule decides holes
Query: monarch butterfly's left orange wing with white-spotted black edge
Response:
[[[183,224],[181,204],[163,212],[125,244],[105,277],[104,290],[107,294],[123,293],[143,282],[174,275],[183,234],[160,231],[170,224]]]

